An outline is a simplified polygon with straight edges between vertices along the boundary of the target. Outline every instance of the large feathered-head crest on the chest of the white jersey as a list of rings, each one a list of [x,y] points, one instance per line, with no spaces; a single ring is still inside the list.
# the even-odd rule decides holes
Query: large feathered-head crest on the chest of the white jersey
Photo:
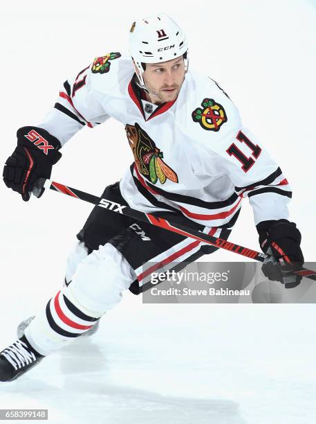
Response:
[[[126,125],[125,131],[136,166],[149,182],[156,184],[158,179],[161,184],[165,184],[166,179],[178,182],[178,176],[174,170],[162,161],[163,153],[138,123],[135,123],[135,126]]]

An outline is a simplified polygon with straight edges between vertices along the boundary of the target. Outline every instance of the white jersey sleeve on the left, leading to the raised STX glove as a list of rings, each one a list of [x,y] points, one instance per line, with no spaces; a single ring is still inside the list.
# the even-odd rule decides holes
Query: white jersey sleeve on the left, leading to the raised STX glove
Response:
[[[104,93],[96,87],[99,76],[93,74],[92,67],[93,64],[64,82],[55,106],[38,125],[62,145],[84,126],[93,128],[110,117],[102,106]]]

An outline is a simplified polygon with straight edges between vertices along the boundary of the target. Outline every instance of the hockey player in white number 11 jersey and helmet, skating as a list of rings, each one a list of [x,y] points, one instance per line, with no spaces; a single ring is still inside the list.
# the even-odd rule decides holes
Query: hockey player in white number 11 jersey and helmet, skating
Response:
[[[44,189],[62,146],[82,127],[110,117],[126,131],[133,164],[105,199],[158,213],[227,238],[248,197],[270,279],[296,285],[301,234],[288,220],[290,186],[263,145],[241,124],[236,106],[214,80],[188,69],[187,39],[167,15],[140,19],[129,34],[131,56],[110,51],[64,82],[44,121],[17,131],[6,161],[6,186],[28,201]],[[104,143],[112,143],[106,139]],[[142,290],[150,272],[216,250],[95,207],[68,258],[65,285],[0,354],[0,380],[14,380],[93,328],[122,299]],[[145,262],[157,263],[145,271]],[[169,265],[168,265],[169,264]],[[278,266],[277,266],[278,265]]]

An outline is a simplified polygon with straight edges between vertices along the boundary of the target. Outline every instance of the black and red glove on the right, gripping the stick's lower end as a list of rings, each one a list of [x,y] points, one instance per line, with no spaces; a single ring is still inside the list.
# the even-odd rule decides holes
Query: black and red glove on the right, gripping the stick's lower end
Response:
[[[288,220],[263,221],[257,224],[259,244],[270,257],[262,265],[263,274],[272,281],[280,281],[285,288],[295,288],[301,276],[292,274],[304,264],[299,247],[301,233],[294,222]]]

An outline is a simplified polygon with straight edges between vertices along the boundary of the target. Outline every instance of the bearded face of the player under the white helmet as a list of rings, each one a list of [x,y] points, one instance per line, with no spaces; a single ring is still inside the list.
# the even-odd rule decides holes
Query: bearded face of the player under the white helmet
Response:
[[[142,74],[152,103],[165,103],[176,100],[185,79],[183,57],[161,63],[147,63]]]

